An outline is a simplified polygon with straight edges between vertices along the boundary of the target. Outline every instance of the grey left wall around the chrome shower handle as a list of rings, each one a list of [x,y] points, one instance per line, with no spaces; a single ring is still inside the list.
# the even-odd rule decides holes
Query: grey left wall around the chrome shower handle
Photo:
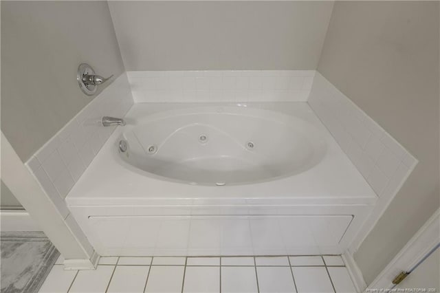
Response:
[[[124,72],[106,1],[1,1],[1,129],[23,162],[94,98],[83,62]]]

